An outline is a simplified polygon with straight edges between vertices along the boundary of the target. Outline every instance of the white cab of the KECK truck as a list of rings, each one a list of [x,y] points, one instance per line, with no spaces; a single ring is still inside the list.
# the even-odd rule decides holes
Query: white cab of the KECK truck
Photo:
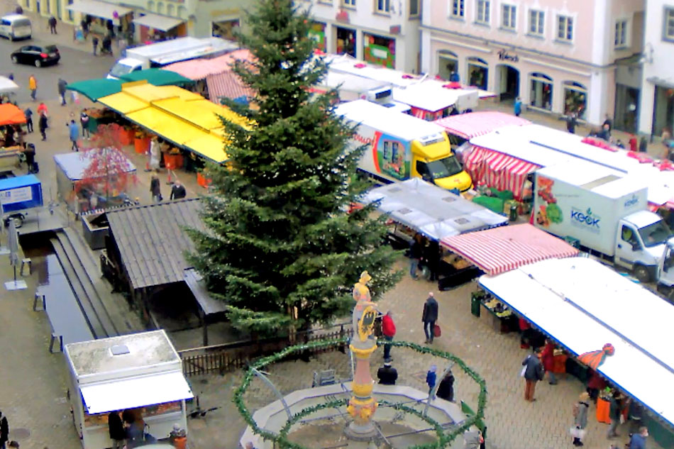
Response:
[[[621,218],[616,232],[614,263],[633,271],[640,282],[656,279],[672,236],[663,219],[651,211],[639,211]]]

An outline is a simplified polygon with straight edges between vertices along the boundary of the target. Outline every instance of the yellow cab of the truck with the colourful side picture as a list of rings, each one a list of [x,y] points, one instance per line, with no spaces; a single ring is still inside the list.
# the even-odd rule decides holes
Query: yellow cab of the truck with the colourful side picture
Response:
[[[427,135],[414,140],[411,145],[411,174],[443,189],[458,189],[465,192],[473,187],[473,181],[468,173],[463,171],[456,156],[453,153],[447,155],[448,143],[445,133]]]

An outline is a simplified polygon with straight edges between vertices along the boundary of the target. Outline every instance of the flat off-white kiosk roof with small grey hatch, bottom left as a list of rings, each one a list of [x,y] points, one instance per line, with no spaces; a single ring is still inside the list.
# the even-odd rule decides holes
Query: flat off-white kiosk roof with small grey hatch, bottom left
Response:
[[[113,347],[126,346],[128,353],[113,355]],[[150,331],[101,338],[65,345],[65,353],[77,377],[180,362],[166,332]]]

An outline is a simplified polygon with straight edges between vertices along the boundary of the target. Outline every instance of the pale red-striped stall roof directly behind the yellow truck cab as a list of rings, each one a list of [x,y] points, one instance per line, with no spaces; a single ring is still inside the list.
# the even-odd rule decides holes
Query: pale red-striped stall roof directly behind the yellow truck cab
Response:
[[[526,118],[499,111],[460,113],[456,116],[441,118],[434,123],[445,128],[448,133],[468,140],[478,135],[491,133],[504,126],[531,125]]]

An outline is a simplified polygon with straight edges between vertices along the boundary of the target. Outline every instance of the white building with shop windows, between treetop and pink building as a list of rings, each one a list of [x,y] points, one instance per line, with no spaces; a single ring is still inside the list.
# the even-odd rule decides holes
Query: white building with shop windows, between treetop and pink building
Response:
[[[328,53],[419,72],[421,0],[299,0],[311,9],[311,36]]]

